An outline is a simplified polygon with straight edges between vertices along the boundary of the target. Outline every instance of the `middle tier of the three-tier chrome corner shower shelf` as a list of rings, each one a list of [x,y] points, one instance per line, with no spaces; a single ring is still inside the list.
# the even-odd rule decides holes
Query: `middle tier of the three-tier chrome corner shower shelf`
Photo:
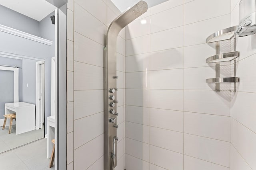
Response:
[[[222,53],[213,55],[206,59],[206,63],[217,63],[217,62],[225,62],[231,61],[239,57],[239,51],[232,51],[228,53]]]

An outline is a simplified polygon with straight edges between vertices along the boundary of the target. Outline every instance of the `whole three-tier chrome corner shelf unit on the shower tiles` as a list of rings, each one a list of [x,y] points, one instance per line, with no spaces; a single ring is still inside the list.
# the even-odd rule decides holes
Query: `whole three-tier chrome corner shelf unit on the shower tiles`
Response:
[[[206,63],[215,63],[216,78],[206,79],[206,83],[215,83],[215,90],[220,91],[220,83],[234,83],[234,90],[236,91],[236,82],[239,82],[239,77],[236,77],[236,58],[239,57],[239,51],[236,51],[236,29],[237,26],[229,27],[217,31],[207,37],[206,43],[216,43],[216,55],[208,57]],[[220,42],[224,40],[231,40],[234,37],[234,51],[228,53],[220,53]],[[220,62],[234,60],[234,77],[220,77]]]

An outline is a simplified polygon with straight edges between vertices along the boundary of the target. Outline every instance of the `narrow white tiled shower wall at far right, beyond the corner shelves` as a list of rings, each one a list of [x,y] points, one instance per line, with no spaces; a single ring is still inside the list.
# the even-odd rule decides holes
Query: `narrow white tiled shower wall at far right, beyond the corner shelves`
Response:
[[[231,25],[238,25],[239,1],[231,0]],[[240,83],[231,96],[231,170],[253,170],[255,164],[255,35],[239,37],[236,50],[240,52],[237,76]],[[250,80],[249,80],[250,79]]]

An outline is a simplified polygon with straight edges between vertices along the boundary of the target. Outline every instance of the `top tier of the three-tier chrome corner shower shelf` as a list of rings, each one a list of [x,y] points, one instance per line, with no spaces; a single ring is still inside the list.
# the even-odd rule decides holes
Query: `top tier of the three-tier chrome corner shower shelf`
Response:
[[[210,35],[209,37],[207,37],[206,43],[213,43],[217,41],[224,41],[224,40],[231,39],[232,37],[234,37],[236,33],[236,29],[237,29],[237,26],[233,26],[233,27],[229,27],[229,28],[217,31],[212,35]]]

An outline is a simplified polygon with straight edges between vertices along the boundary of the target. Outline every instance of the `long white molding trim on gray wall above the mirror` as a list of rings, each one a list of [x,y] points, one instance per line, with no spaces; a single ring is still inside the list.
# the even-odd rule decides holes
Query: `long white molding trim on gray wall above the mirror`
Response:
[[[41,38],[41,37],[37,37],[35,35],[25,33],[23,31],[19,31],[17,29],[6,27],[6,26],[1,25],[1,24],[0,24],[0,31],[5,32],[5,33],[9,33],[9,34],[12,34],[12,35],[16,35],[16,36],[19,36],[19,37],[23,37],[23,38],[26,38],[26,39],[30,39],[32,41],[36,41],[36,42],[43,43],[43,44],[46,44],[46,45],[52,45],[52,41],[50,41],[50,40],[47,40],[47,39],[44,39],[44,38]]]

